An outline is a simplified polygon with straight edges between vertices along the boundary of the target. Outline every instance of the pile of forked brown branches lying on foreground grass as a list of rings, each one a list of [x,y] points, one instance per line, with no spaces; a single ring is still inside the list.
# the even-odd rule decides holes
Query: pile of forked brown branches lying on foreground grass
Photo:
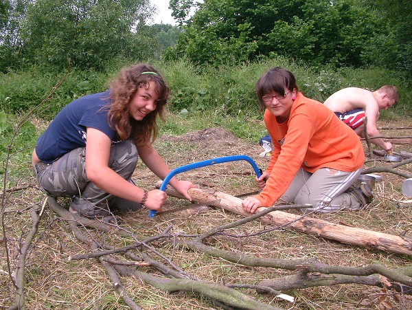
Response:
[[[237,254],[229,250],[220,250],[205,243],[205,240],[212,236],[216,237],[219,234],[225,234],[225,230],[239,227],[249,221],[255,221],[265,214],[268,214],[268,212],[284,209],[286,208],[285,206],[266,208],[266,210],[253,214],[250,217],[218,226],[203,234],[174,234],[172,232],[173,228],[170,226],[161,234],[150,236],[144,240],[138,240],[134,232],[122,228],[117,223],[104,223],[97,219],[91,220],[76,214],[71,214],[65,208],[62,208],[54,198],[47,197],[42,206],[32,208],[30,211],[33,225],[21,247],[15,276],[12,278],[14,287],[16,287],[16,300],[10,309],[25,309],[24,269],[26,255],[36,235],[38,224],[45,212],[47,203],[61,219],[67,221],[76,238],[90,248],[89,253],[73,255],[70,256],[69,259],[97,259],[104,269],[106,269],[106,273],[111,278],[113,287],[130,309],[140,309],[140,307],[133,301],[133,298],[130,298],[128,295],[124,285],[122,285],[122,277],[137,278],[148,285],[152,285],[168,293],[175,291],[196,292],[201,296],[209,298],[216,307],[220,307],[221,309],[279,309],[272,305],[259,302],[255,298],[238,291],[237,288],[255,289],[256,294],[272,294],[278,298],[284,298],[290,301],[293,301],[293,297],[282,294],[280,291],[347,283],[382,287],[388,291],[393,291],[393,294],[412,295],[412,267],[388,269],[380,264],[371,264],[362,267],[342,267],[320,263],[315,258],[290,260],[255,257],[246,254]],[[293,206],[288,206],[287,208],[293,208]],[[117,247],[106,241],[99,240],[92,231],[111,232],[128,236],[133,242],[126,247]],[[188,251],[201,252],[238,265],[286,269],[295,271],[295,274],[262,280],[258,285],[209,283],[199,280],[191,274],[187,274],[187,272],[172,262],[172,258],[161,254],[161,251],[159,251],[157,247],[162,245],[172,245],[176,248],[183,247]],[[122,256],[122,258],[119,258],[119,256]],[[141,272],[139,266],[149,266],[155,269],[157,274],[160,273],[163,274],[163,276],[154,276],[147,272]],[[10,272],[10,274],[12,273]]]

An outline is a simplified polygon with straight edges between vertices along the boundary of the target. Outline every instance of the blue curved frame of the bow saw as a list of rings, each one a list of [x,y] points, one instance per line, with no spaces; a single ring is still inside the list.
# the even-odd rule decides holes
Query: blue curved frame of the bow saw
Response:
[[[170,171],[168,175],[166,175],[165,179],[163,179],[163,182],[159,190],[165,191],[166,186],[168,186],[170,179],[172,179],[172,177],[174,177],[178,173],[183,173],[188,170],[193,170],[196,168],[201,168],[201,167],[210,166],[214,164],[221,164],[222,162],[235,162],[237,160],[246,160],[247,162],[249,162],[249,164],[251,164],[251,166],[253,167],[253,170],[255,170],[255,174],[257,177],[260,177],[260,175],[262,175],[262,170],[258,168],[258,165],[253,161],[253,159],[251,159],[251,157],[247,155],[232,155],[232,156],[226,156],[226,157],[219,157],[215,159],[207,159],[207,160],[204,160],[203,162],[194,162],[193,164],[188,164],[185,166],[180,166],[178,168],[175,168],[172,171]],[[156,215],[156,210],[149,211],[149,217],[155,217],[155,215]]]

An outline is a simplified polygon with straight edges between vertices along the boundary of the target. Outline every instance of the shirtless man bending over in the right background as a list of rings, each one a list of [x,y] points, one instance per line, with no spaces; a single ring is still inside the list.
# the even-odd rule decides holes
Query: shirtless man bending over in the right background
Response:
[[[360,137],[364,137],[363,118],[367,117],[367,135],[378,137],[380,133],[376,128],[376,121],[379,118],[379,110],[388,109],[397,100],[398,89],[392,85],[382,86],[376,91],[347,87],[333,93],[324,104]],[[391,142],[385,142],[382,138],[371,139],[371,142],[387,153],[392,152]]]

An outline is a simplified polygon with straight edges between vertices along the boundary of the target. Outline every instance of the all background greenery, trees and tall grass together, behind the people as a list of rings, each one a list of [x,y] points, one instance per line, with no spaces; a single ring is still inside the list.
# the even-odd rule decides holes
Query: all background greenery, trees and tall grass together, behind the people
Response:
[[[256,115],[254,83],[281,65],[319,101],[343,87],[396,85],[400,100],[391,111],[411,115],[411,6],[170,0],[174,26],[149,25],[149,0],[3,0],[0,111],[28,111],[69,68],[42,114],[52,118],[71,100],[106,89],[120,67],[145,61],[165,74],[175,111]]]

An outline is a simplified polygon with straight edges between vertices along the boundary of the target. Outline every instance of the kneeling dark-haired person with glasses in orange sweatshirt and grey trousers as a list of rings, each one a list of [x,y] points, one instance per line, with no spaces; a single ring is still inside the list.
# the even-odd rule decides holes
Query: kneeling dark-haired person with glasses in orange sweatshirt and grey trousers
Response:
[[[371,201],[365,184],[352,186],[365,160],[358,136],[321,102],[300,93],[290,71],[274,67],[263,74],[256,94],[266,109],[264,124],[273,153],[257,178],[262,192],[244,199],[244,210],[253,213],[285,201],[310,204],[309,211],[333,212],[358,210]]]

